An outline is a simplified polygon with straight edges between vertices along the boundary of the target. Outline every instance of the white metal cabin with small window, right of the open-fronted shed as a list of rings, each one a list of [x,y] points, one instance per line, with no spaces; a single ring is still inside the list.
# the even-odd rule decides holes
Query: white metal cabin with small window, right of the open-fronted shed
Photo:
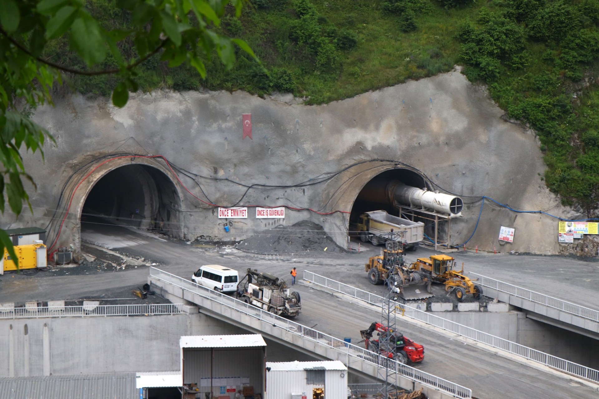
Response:
[[[267,362],[266,370],[266,399],[347,399],[340,361]]]

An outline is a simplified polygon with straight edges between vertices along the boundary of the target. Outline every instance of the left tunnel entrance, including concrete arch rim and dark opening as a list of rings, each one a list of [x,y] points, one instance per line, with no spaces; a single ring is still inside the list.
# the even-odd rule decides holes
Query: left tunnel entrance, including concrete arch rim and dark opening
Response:
[[[79,170],[77,175],[81,181],[72,194],[55,247],[71,246],[74,256],[78,257],[81,221],[90,217],[102,218],[101,222],[96,220],[100,224],[139,227],[185,238],[181,211],[183,193],[176,184],[176,176],[160,159],[102,158]]]

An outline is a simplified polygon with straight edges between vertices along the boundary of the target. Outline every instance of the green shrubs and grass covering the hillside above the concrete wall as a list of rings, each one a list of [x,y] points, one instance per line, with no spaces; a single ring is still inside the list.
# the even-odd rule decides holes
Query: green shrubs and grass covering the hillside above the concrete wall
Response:
[[[325,103],[464,65],[510,118],[536,130],[549,169],[541,179],[564,203],[596,214],[599,201],[599,0],[253,0],[220,30],[243,38],[261,64],[238,53],[226,70],[204,60],[202,80],[189,66],[143,63],[141,90],[292,92]],[[110,0],[87,7],[109,28],[135,15]],[[135,44],[125,48],[133,59]],[[46,56],[84,67],[66,38]],[[112,68],[110,57],[104,63]],[[116,77],[77,77],[83,93],[110,95]]]

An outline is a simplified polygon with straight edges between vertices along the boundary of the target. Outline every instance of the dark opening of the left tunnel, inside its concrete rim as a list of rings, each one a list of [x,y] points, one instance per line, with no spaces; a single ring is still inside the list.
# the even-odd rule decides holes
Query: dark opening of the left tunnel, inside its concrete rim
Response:
[[[126,165],[106,173],[87,195],[83,224],[100,218],[113,224],[179,236],[180,197],[173,181],[148,165]]]

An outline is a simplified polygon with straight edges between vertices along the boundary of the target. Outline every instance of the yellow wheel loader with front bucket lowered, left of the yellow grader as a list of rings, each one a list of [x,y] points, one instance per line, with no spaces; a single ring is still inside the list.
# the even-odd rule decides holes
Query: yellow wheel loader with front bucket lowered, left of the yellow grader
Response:
[[[388,245],[382,254],[370,257],[364,265],[370,284],[386,283],[389,290],[406,300],[432,297],[431,281],[407,267],[403,250],[392,247]]]

